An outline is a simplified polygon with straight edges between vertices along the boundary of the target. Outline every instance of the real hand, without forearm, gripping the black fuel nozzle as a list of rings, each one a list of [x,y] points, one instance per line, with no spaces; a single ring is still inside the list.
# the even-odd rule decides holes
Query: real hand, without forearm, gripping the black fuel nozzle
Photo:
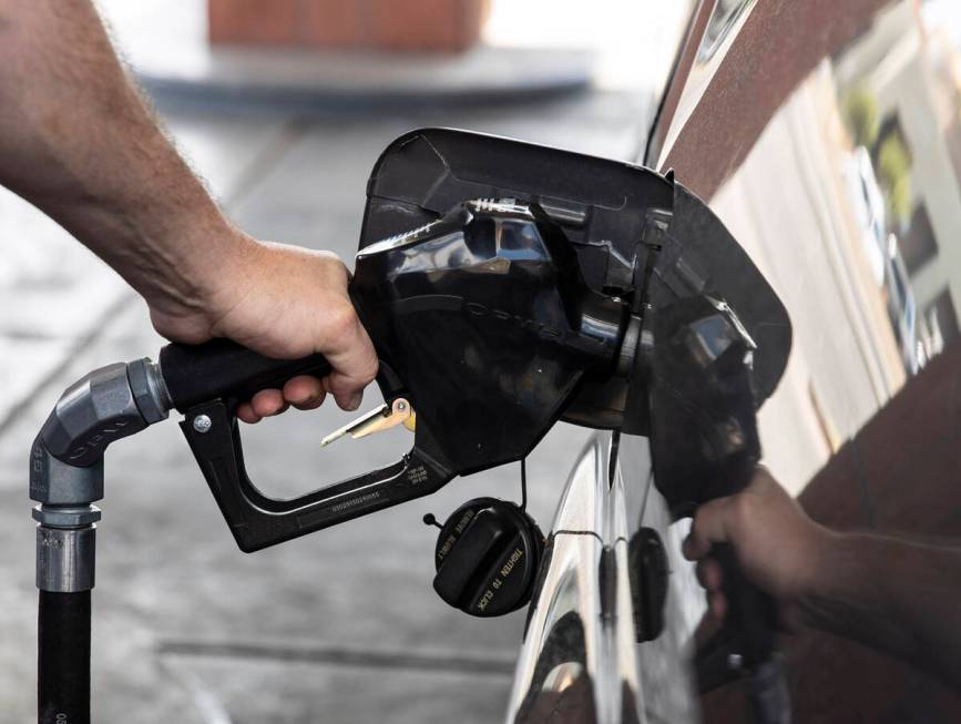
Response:
[[[347,295],[347,267],[329,252],[243,235],[231,248],[235,253],[190,298],[163,293],[147,298],[156,330],[187,344],[226,337],[279,359],[320,353],[330,363],[324,379],[299,376],[283,389],[254,395],[237,408],[245,422],[289,405],[314,409],[328,392],[340,408],[357,409],[377,374],[377,355]]]

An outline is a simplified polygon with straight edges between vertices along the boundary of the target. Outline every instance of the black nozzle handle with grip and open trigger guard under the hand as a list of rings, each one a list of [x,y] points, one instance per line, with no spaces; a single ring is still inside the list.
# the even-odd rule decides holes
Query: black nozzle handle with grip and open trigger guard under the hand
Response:
[[[386,366],[378,383],[391,388]],[[272,359],[226,339],[170,344],[160,368],[170,404],[184,414],[181,429],[241,550],[252,552],[433,492],[452,477],[423,426],[398,462],[327,485],[298,498],[265,496],[244,465],[237,404],[297,375],[324,376],[321,355]]]

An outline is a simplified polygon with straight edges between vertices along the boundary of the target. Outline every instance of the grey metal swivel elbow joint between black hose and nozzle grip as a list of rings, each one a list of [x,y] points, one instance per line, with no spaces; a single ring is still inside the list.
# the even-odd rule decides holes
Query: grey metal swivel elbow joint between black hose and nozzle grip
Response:
[[[150,359],[101,367],[71,385],[30,450],[37,527],[37,588],[93,588],[95,523],[108,445],[167,417],[170,400]]]

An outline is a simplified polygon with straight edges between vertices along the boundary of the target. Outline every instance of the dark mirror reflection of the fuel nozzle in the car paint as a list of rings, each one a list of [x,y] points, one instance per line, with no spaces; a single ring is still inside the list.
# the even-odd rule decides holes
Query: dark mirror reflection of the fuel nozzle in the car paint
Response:
[[[652,309],[646,350],[654,481],[675,518],[743,490],[760,460],[753,361],[756,344],[724,302],[708,295]],[[777,653],[776,601],[744,575],[734,549],[715,545],[728,601],[725,625],[697,659],[703,690],[740,675],[754,721],[790,720]]]

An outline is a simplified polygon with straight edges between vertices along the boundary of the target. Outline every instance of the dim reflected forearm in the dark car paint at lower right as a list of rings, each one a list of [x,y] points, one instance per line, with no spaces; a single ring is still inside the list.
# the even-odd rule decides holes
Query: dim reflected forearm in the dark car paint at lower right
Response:
[[[961,687],[961,549],[832,533],[799,604],[810,625]]]

